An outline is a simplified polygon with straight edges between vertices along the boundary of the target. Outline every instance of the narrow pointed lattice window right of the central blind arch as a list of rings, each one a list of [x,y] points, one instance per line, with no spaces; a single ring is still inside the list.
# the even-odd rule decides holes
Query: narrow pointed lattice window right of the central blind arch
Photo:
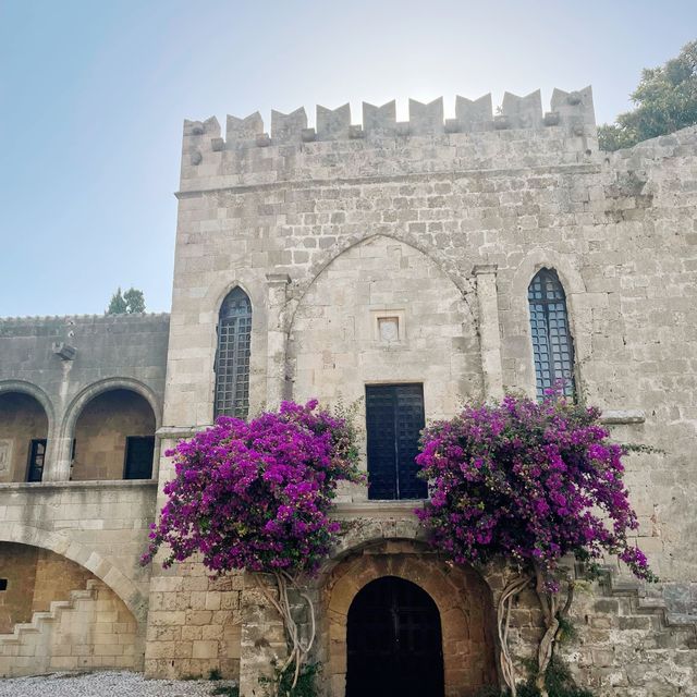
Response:
[[[568,329],[566,295],[555,271],[541,269],[527,289],[537,396],[561,384],[574,395],[574,342]]]

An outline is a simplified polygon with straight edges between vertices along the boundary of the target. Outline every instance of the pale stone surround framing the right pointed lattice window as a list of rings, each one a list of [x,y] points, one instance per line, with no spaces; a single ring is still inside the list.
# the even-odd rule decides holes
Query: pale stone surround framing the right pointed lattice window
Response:
[[[578,393],[583,393],[583,365],[590,357],[592,327],[591,306],[586,295],[586,284],[577,268],[577,257],[560,254],[553,249],[536,247],[530,249],[513,274],[510,290],[511,315],[515,320],[515,331],[525,337],[523,351],[523,375],[516,384],[530,396],[535,396],[535,360],[530,337],[530,310],[527,290],[530,281],[541,269],[557,272],[566,295],[568,327],[574,341],[575,375]]]

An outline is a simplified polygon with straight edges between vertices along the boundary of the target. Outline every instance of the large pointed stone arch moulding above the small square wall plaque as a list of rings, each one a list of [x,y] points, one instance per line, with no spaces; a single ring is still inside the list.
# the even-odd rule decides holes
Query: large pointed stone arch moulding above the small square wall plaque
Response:
[[[475,292],[470,280],[460,273],[456,265],[452,260],[448,259],[445,255],[441,254],[437,247],[425,245],[417,235],[414,235],[406,231],[401,231],[399,234],[395,234],[393,232],[380,231],[346,235],[345,237],[340,237],[337,241],[335,245],[327,249],[325,253],[320,254],[319,258],[310,265],[309,269],[307,269],[307,272],[304,276],[303,280],[295,283],[291,289],[291,292],[289,294],[289,311],[285,314],[285,321],[288,322],[285,327],[286,333],[290,334],[293,328],[295,313],[299,307],[303,297],[305,297],[307,291],[317,281],[322,271],[325,271],[327,267],[329,267],[334,260],[337,260],[348,249],[368,242],[369,240],[374,240],[375,237],[389,237],[390,240],[401,242],[402,244],[406,244],[409,247],[413,247],[414,249],[420,252],[454,283],[457,290],[462,293],[463,297],[466,297],[468,294]],[[472,315],[473,310],[469,303],[466,303],[465,305],[467,307],[467,310]],[[472,319],[473,321],[475,320],[474,315],[472,316]]]

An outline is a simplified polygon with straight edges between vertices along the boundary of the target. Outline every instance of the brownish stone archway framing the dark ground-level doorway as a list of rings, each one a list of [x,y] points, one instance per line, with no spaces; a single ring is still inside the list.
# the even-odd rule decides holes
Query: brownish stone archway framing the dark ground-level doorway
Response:
[[[318,657],[326,664],[325,689],[344,697],[348,609],[370,582],[395,576],[419,586],[440,613],[445,697],[470,697],[485,685],[496,685],[496,645],[491,591],[473,568],[457,567],[409,541],[384,541],[343,559],[329,574],[321,594],[321,633]]]

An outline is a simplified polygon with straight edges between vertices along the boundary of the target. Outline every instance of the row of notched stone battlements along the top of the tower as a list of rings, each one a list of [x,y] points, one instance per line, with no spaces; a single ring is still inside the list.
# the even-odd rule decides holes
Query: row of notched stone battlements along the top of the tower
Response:
[[[228,115],[225,137],[218,120],[184,121],[184,164],[196,166],[208,150],[236,150],[269,145],[291,145],[322,140],[380,139],[391,136],[432,136],[443,133],[477,133],[486,131],[562,127],[570,136],[590,135],[596,119],[591,87],[577,91],[554,89],[550,111],[542,111],[540,90],[525,97],[505,93],[494,114],[491,95],[479,99],[455,98],[455,118],[443,119],[442,97],[430,103],[409,99],[409,119],[396,121],[394,100],[381,107],[364,102],[363,123],[352,124],[351,106],[337,109],[317,106],[316,125],[307,126],[307,114],[301,107],[291,113],[271,111],[271,132],[265,131],[258,111],[246,118]]]

